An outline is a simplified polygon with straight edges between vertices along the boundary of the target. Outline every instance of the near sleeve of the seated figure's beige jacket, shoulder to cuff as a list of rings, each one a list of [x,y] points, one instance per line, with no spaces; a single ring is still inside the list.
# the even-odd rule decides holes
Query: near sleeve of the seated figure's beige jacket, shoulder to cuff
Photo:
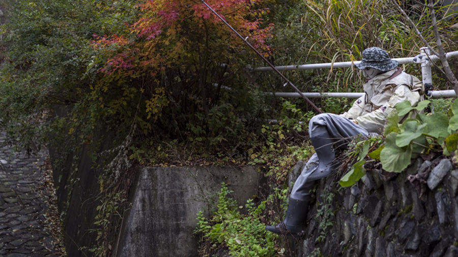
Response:
[[[412,106],[415,106],[420,101],[420,94],[417,91],[411,91],[407,85],[399,85],[394,90],[393,95],[386,105],[357,117],[356,121],[358,121],[358,125],[364,127],[368,132],[380,133],[385,126],[386,118],[395,110],[394,106],[406,100],[408,100]]]

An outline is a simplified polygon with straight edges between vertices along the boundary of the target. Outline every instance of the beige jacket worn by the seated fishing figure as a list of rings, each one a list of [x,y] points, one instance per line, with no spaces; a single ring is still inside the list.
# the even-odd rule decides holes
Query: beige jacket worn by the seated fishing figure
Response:
[[[365,95],[353,103],[348,112],[341,114],[349,119],[355,119],[358,125],[368,132],[381,133],[385,126],[388,114],[397,103],[409,100],[415,106],[423,98],[423,84],[421,81],[405,72],[396,75],[395,68],[377,75],[367,81],[363,88]],[[400,117],[402,120],[405,117]]]

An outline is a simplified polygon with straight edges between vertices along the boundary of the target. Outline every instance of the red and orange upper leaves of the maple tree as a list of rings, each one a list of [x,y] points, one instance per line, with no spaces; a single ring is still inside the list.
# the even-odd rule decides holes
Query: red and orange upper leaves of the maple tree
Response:
[[[273,25],[262,27],[261,16],[268,10],[254,9],[261,2],[207,1],[241,35],[249,36],[248,41],[267,56],[270,48],[266,39],[271,36]],[[221,58],[240,51],[243,45],[200,1],[148,0],[137,8],[140,17],[129,26],[130,35],[94,35],[93,46],[109,52],[106,65],[101,69],[106,75],[154,75],[164,68],[195,64],[203,57],[221,61]]]

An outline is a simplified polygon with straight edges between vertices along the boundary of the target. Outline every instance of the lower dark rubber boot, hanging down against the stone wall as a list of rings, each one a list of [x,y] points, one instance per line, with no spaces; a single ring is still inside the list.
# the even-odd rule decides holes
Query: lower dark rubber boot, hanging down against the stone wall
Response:
[[[301,233],[307,217],[308,203],[308,198],[305,201],[290,198],[284,220],[276,226],[266,226],[266,230],[276,234],[282,232],[291,234]]]

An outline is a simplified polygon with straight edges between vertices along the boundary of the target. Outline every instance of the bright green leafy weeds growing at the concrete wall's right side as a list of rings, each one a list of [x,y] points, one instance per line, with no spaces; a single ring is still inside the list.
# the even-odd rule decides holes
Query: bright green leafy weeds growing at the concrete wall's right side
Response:
[[[284,202],[287,190],[276,190],[257,206],[250,199],[244,207],[238,206],[230,197],[231,192],[222,183],[216,211],[211,214],[211,218],[206,218],[202,211],[198,213],[195,233],[202,235],[200,254],[277,256],[284,251],[275,246],[275,238],[278,236],[265,230],[263,219],[266,206],[271,205],[275,199]],[[242,210],[246,214],[242,214]]]

